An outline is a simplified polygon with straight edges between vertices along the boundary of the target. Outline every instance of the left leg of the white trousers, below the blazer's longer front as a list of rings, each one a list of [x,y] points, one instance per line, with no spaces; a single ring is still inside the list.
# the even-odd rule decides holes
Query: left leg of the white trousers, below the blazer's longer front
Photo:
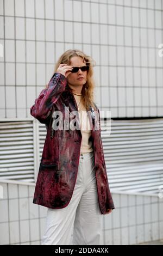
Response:
[[[49,209],[42,245],[70,245],[77,206],[83,194],[81,163],[70,203],[62,209]]]

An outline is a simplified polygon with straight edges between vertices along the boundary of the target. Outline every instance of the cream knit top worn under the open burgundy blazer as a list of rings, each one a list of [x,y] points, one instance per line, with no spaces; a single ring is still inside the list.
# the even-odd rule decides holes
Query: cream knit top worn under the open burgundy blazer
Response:
[[[89,141],[89,138],[91,136],[91,126],[90,126],[90,120],[86,112],[86,108],[84,107],[82,103],[82,96],[73,94],[79,111],[79,118],[80,118],[80,129],[82,132],[82,144],[80,148],[80,154],[86,154],[93,151],[92,148],[92,142]],[[81,100],[81,101],[80,101]]]

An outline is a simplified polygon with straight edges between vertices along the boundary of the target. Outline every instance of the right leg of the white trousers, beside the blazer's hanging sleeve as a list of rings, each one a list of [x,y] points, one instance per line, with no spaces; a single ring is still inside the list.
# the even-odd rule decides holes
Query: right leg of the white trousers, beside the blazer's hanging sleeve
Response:
[[[84,192],[76,211],[72,243],[103,245],[102,214],[98,203],[94,158],[89,154],[84,157]]]

